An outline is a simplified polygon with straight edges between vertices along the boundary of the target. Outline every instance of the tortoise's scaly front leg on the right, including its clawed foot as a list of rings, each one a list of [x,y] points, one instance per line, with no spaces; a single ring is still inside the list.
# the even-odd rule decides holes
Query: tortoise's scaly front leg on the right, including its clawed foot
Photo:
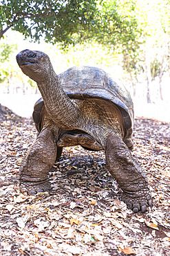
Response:
[[[121,199],[127,208],[134,212],[146,212],[151,205],[148,180],[127,145],[118,136],[111,135],[106,140],[105,156],[107,169],[123,190]]]

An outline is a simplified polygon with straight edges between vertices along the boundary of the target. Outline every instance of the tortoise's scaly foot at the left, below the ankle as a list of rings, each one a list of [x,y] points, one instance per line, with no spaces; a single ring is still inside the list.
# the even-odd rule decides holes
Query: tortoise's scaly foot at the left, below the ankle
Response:
[[[51,190],[50,182],[39,181],[39,182],[30,182],[30,181],[21,181],[20,183],[20,191],[25,194],[25,196],[31,194],[34,195],[39,192],[46,192]]]

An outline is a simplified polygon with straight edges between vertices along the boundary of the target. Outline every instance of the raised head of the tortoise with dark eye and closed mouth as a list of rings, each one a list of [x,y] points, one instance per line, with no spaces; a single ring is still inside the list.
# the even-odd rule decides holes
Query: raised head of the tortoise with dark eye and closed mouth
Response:
[[[17,63],[25,75],[28,75],[35,82],[47,80],[50,67],[50,58],[41,51],[23,50],[17,57]]]

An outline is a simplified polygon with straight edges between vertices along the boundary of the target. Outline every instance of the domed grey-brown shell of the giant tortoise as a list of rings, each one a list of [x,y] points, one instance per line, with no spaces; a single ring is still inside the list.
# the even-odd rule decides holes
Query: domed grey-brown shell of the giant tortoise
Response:
[[[134,123],[134,106],[125,86],[116,83],[111,75],[100,68],[75,66],[58,75],[59,82],[71,99],[100,98],[105,104],[116,104],[123,116],[125,138],[131,138]],[[41,131],[43,99],[34,104],[33,119],[36,129]]]

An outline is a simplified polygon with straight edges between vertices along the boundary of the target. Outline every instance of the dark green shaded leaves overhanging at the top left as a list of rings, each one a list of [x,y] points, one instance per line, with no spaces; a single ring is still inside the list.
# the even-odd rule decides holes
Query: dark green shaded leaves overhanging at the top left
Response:
[[[8,28],[33,41],[74,44],[74,33],[90,30],[95,0],[3,0],[0,6],[0,38]]]

